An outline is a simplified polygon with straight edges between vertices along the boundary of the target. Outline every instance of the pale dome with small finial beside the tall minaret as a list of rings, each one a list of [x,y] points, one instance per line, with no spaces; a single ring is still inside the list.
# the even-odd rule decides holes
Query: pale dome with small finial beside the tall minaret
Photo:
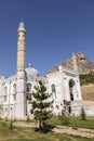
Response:
[[[28,67],[26,68],[26,73],[27,73],[27,75],[30,75],[30,76],[39,75],[39,72],[37,69],[35,69],[31,64],[29,64]]]

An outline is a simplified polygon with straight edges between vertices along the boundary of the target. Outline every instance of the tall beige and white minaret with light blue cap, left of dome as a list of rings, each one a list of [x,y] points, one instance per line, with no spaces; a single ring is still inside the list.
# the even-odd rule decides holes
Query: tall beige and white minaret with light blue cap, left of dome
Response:
[[[17,30],[17,82],[16,82],[16,118],[26,116],[26,29],[24,23],[19,23]]]

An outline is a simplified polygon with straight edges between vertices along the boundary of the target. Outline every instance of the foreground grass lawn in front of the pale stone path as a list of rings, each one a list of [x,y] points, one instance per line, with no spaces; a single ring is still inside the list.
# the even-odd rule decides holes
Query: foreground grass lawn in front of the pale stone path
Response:
[[[0,121],[0,141],[94,141],[94,139],[51,131],[43,133],[31,128],[13,128],[11,130],[8,123]]]

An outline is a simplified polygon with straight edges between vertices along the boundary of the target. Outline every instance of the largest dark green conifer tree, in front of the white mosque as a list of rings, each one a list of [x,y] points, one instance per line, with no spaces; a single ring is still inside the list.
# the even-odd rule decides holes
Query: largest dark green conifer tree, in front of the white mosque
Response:
[[[32,92],[33,100],[31,104],[35,119],[39,120],[39,129],[42,128],[43,121],[52,116],[50,107],[53,101],[49,99],[51,95],[51,93],[46,92],[46,87],[41,80],[37,86],[35,86],[35,92]]]

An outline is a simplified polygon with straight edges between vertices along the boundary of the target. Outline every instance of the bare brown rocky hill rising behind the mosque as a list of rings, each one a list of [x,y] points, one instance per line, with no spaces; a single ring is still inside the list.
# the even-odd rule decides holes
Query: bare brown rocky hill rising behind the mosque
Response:
[[[79,74],[89,74],[91,72],[94,72],[94,63],[89,61],[89,59],[84,55],[83,52],[78,52],[76,54],[76,59],[77,59]],[[62,62],[58,65],[64,65],[66,67],[73,69],[72,57]],[[48,72],[48,74],[58,70],[58,65],[54,66],[51,70]]]

